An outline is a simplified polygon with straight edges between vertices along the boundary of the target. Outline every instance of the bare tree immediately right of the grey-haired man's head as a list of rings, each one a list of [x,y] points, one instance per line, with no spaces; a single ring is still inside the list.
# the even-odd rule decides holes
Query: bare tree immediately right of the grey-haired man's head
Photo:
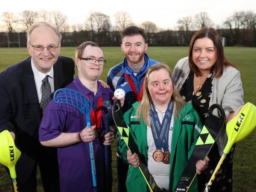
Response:
[[[62,14],[60,11],[52,11],[50,15],[53,19],[53,23],[55,24],[56,28],[60,31],[67,31],[67,16]]]

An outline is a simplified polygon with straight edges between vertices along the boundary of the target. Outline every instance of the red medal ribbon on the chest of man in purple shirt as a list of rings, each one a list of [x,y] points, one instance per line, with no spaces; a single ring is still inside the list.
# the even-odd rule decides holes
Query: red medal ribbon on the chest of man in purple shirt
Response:
[[[89,97],[87,95],[85,95],[85,96],[87,99],[89,99]],[[102,116],[102,96],[100,96],[98,98],[98,104],[97,104],[96,111],[94,112],[94,109],[92,108],[92,110],[90,112],[91,123],[92,123],[92,125],[96,125],[96,129],[100,128],[101,116]]]

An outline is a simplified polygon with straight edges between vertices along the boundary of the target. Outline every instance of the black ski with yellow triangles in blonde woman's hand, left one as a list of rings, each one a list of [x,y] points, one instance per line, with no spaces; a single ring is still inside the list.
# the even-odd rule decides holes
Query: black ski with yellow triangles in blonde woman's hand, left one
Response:
[[[125,120],[123,118],[122,108],[121,108],[121,102],[119,99],[116,99],[113,108],[112,108],[112,114],[113,119],[116,124],[116,127],[119,131],[119,134],[122,136],[122,139],[124,140],[125,144],[127,145],[128,149],[131,151],[131,153],[137,153],[140,157],[140,151],[137,146],[137,144],[134,141],[134,138],[129,132],[129,127],[125,124]],[[148,167],[140,160],[140,172],[143,175],[145,182],[148,185],[148,189],[151,192],[167,192],[166,189],[160,189],[157,186],[157,183],[154,180],[154,177],[151,175],[151,173],[148,170]]]

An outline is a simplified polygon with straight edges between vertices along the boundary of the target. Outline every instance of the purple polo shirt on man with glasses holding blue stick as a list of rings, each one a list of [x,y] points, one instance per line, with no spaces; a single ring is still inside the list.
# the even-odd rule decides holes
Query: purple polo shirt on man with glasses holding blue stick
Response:
[[[105,89],[98,81],[96,96],[81,84],[78,76],[66,88],[73,89],[87,95],[95,111],[98,98],[102,95],[102,116],[109,113],[112,116],[113,91]],[[78,109],[67,104],[56,104],[51,100],[44,112],[39,129],[39,140],[47,141],[58,137],[62,132],[73,133],[86,127],[86,118]],[[101,122],[101,128],[103,127]],[[94,157],[96,163],[96,178],[98,191],[104,189],[104,148],[99,138],[93,140]],[[61,192],[93,192],[93,180],[88,143],[58,147],[58,163],[60,172]]]

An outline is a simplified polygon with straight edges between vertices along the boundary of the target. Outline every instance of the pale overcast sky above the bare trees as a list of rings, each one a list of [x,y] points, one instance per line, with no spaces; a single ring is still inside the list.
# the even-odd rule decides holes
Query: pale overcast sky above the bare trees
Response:
[[[236,11],[256,13],[256,0],[4,0],[1,2],[0,15],[3,12],[20,13],[24,10],[41,9],[62,12],[67,15],[70,26],[84,24],[90,11],[109,15],[114,24],[113,15],[117,11],[126,11],[137,25],[150,20],[160,28],[175,29],[180,17],[199,12],[207,12],[213,23],[221,26]]]

